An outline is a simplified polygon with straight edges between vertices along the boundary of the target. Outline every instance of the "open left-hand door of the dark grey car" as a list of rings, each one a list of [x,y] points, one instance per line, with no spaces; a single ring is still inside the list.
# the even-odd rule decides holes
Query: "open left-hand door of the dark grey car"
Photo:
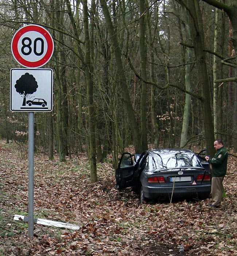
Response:
[[[116,170],[116,187],[117,189],[123,189],[132,187],[135,182],[133,180],[133,174],[135,172],[135,159],[133,159],[130,153],[123,153],[119,161],[119,167]]]

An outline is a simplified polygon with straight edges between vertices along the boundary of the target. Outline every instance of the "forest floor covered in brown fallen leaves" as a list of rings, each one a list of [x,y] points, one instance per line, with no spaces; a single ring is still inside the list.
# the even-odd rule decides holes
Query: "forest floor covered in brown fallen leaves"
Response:
[[[27,216],[27,148],[0,142],[0,256],[2,255],[237,255],[237,159],[230,156],[227,198],[211,210],[209,199],[139,206],[131,188],[118,191],[111,163],[98,163],[90,184],[85,154],[59,163],[34,158],[34,217],[79,230],[14,221]]]

